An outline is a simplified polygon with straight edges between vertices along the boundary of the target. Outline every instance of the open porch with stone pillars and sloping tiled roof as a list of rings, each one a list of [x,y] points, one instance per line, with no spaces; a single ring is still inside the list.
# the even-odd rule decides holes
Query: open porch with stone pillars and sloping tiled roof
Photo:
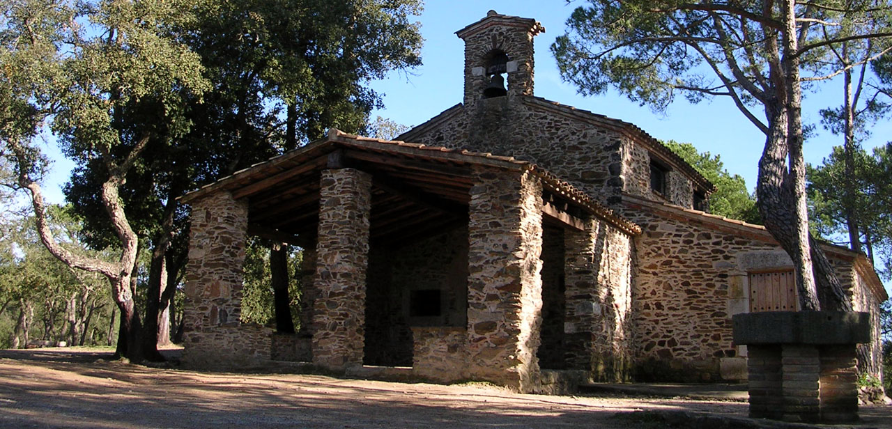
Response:
[[[529,162],[335,129],[184,201],[193,210],[186,363],[302,360],[524,392],[541,388],[540,357],[591,369],[580,355],[603,344],[565,338],[563,326],[570,318],[574,333],[603,331],[595,292],[609,273],[574,271],[591,277],[577,282],[591,286],[581,292],[564,285],[566,266],[585,263],[580,246],[602,251],[609,234],[625,237],[628,255],[628,236],[640,231]],[[297,334],[239,321],[248,235],[303,249]],[[571,245],[543,248],[543,236]],[[543,298],[553,309],[544,320]],[[597,326],[582,326],[581,309]]]

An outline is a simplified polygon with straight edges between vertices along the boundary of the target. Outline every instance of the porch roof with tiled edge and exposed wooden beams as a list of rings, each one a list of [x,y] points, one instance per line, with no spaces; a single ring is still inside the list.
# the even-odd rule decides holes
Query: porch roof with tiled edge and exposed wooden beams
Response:
[[[582,217],[596,216],[626,234],[640,233],[631,221],[529,162],[491,153],[351,136],[336,129],[329,130],[325,139],[186,194],[181,202],[231,193],[235,199],[247,199],[252,234],[307,245],[315,241],[318,227],[321,170],[354,168],[372,176],[372,240],[405,243],[413,237],[442,232],[445,226],[467,224],[475,166],[529,171],[540,177],[543,192],[552,202],[552,207],[543,212],[558,223],[579,227]]]

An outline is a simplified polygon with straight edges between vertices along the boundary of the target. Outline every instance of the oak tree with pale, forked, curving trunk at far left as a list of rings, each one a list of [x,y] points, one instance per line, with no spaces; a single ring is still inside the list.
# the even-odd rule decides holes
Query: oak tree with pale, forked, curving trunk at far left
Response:
[[[12,186],[28,192],[41,241],[56,258],[108,279],[121,314],[117,353],[130,359],[144,358],[132,284],[138,236],[121,188],[153,138],[187,129],[184,95],[208,89],[198,56],[170,36],[194,18],[191,10],[185,0],[13,0],[2,9],[0,153],[14,163]],[[163,114],[124,120],[146,103]],[[97,195],[119,249],[113,260],[70,252],[47,225],[41,134],[58,139],[71,159],[102,167]]]

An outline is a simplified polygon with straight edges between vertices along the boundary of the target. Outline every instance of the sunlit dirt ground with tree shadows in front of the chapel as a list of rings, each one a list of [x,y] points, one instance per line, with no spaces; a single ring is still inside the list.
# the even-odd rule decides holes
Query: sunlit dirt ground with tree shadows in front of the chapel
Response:
[[[541,396],[477,384],[205,373],[100,359],[107,355],[0,351],[0,427],[625,428],[640,426],[623,417],[635,410],[747,413],[742,402]]]

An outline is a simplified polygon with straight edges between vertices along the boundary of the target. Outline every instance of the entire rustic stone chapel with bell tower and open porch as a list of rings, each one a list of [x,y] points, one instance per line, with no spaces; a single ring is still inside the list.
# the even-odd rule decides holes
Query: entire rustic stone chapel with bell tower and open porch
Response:
[[[183,198],[192,208],[184,362],[521,392],[747,376],[731,316],[795,310],[764,227],[709,214],[714,186],[640,128],[533,95],[532,19],[489,12],[462,103],[394,141],[325,138]],[[303,249],[297,334],[240,322],[246,237]],[[825,244],[880,375],[888,296]]]

